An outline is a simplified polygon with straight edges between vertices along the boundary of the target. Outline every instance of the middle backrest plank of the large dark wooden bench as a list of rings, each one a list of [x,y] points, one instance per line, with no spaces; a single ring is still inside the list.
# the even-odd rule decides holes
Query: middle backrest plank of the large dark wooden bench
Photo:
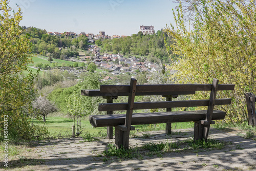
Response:
[[[231,98],[216,99],[215,105],[230,104]],[[99,111],[124,111],[128,103],[100,103]],[[161,109],[161,108],[185,108],[191,106],[208,106],[209,100],[182,100],[182,101],[156,101],[156,102],[135,102],[134,110]]]

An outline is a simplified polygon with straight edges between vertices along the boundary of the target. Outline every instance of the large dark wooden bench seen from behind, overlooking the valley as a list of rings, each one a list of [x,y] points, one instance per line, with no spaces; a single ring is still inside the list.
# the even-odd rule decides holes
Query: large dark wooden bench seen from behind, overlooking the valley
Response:
[[[102,96],[108,103],[100,103],[99,111],[107,111],[107,115],[91,115],[90,123],[95,127],[115,126],[115,144],[118,148],[129,147],[129,135],[135,130],[132,125],[156,124],[194,121],[194,140],[207,140],[212,120],[224,119],[224,111],[214,111],[214,105],[230,104],[231,99],[216,99],[216,93],[224,90],[234,90],[234,84],[218,84],[214,79],[212,84],[158,84],[136,85],[137,80],[132,78],[130,85],[101,85],[100,90],[81,90],[81,95]],[[210,91],[210,98],[205,100],[134,102],[139,95],[162,95],[167,100],[173,95],[195,94],[196,91]],[[112,103],[117,96],[128,96],[127,103]],[[193,106],[208,106],[207,110],[172,112],[172,108]],[[166,112],[134,113],[133,110],[164,109]],[[113,114],[113,111],[124,111],[126,114]],[[168,126],[167,126],[168,127]]]

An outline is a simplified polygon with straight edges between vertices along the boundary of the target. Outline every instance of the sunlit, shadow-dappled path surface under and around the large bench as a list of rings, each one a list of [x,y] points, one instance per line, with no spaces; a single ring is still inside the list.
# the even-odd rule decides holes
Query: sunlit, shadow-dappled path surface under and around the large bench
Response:
[[[181,142],[193,135],[193,129],[175,131],[168,136],[169,143]],[[114,140],[83,142],[78,137],[33,142],[36,155],[44,159],[34,170],[256,170],[256,141],[244,139],[237,133],[235,130],[210,130],[209,138],[223,141],[223,149],[195,151],[182,147],[156,155],[148,155],[150,153],[143,150],[139,157],[132,159],[102,156],[108,143]],[[142,138],[148,134],[151,134],[149,138]],[[131,138],[132,148],[167,141],[164,131],[137,133],[137,136]]]

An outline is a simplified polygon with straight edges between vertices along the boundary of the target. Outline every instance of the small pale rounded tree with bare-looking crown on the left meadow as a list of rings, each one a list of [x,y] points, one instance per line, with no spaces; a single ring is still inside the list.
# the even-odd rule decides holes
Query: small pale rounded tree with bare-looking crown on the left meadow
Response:
[[[57,111],[56,106],[42,96],[37,97],[36,100],[33,101],[33,108],[35,109],[36,114],[42,116],[44,122],[46,122],[48,114]]]

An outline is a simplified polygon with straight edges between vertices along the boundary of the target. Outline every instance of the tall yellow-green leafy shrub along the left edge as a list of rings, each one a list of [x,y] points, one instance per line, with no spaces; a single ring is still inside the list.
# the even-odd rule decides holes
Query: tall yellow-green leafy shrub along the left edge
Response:
[[[24,30],[19,26],[22,20],[20,8],[11,15],[8,4],[7,0],[0,1],[0,132],[4,131],[4,116],[8,116],[9,136],[28,139],[32,136],[28,132],[33,127],[23,106],[27,104],[31,109],[30,98],[34,95],[37,75],[28,70],[27,64],[32,63],[28,58],[30,42],[26,35],[22,35]],[[22,77],[23,71],[29,74]]]

